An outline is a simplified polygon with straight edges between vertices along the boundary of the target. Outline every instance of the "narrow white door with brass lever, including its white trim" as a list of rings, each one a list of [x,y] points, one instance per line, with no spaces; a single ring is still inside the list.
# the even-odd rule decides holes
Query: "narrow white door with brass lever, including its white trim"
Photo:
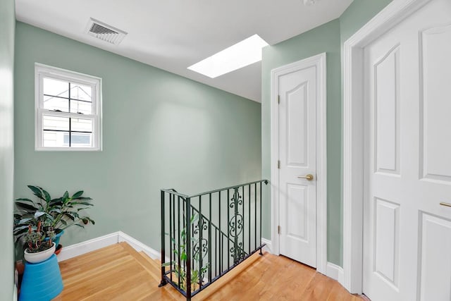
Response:
[[[271,72],[275,254],[326,274],[326,54]]]

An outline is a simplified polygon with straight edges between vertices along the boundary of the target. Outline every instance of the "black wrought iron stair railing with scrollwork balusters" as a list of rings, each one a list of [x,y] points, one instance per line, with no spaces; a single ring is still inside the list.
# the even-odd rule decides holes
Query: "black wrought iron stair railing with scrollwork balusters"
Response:
[[[161,190],[161,283],[187,300],[264,247],[259,180],[183,195]]]

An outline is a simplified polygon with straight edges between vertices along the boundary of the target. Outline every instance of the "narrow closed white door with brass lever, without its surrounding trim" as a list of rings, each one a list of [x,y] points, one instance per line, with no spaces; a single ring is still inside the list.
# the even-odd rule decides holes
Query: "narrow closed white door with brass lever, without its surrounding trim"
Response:
[[[278,77],[280,254],[316,267],[316,67]]]

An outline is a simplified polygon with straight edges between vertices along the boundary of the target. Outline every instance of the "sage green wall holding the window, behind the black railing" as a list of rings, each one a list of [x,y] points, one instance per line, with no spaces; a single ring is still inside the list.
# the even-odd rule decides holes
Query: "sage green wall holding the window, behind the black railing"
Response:
[[[103,79],[103,151],[35,152],[34,64]],[[15,197],[27,184],[85,190],[97,223],[63,245],[114,231],[159,250],[161,188],[192,194],[261,178],[261,105],[17,23]]]

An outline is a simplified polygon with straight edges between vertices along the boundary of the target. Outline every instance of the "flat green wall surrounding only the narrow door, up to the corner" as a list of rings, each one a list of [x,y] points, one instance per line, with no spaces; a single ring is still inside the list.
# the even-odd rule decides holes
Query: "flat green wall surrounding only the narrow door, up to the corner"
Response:
[[[261,91],[261,152],[262,175],[271,178],[271,70],[326,52],[327,66],[327,161],[328,161],[328,261],[340,264],[342,227],[340,158],[340,23],[333,20],[302,35],[264,48]],[[271,221],[271,201],[266,199],[264,216]],[[270,224],[264,228],[264,237],[271,239]]]

